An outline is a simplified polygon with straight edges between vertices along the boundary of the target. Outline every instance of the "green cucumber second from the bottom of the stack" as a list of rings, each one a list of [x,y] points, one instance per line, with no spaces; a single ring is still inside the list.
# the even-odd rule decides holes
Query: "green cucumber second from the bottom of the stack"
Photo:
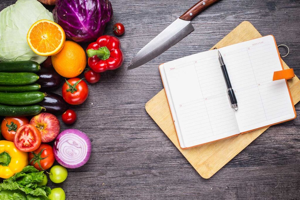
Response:
[[[46,97],[43,92],[0,92],[0,104],[23,106],[41,102]]]

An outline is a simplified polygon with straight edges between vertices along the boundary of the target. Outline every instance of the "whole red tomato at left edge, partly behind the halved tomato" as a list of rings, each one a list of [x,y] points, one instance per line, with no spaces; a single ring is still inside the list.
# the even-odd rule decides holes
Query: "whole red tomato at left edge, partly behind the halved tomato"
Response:
[[[26,117],[6,117],[1,123],[1,133],[6,140],[13,142],[16,130],[28,123],[29,120]]]

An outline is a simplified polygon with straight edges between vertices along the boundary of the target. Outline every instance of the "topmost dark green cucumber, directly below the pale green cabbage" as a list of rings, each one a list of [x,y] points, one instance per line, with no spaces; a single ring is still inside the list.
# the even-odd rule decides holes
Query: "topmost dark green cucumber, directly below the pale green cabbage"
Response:
[[[40,69],[35,61],[0,62],[0,72],[37,72]]]

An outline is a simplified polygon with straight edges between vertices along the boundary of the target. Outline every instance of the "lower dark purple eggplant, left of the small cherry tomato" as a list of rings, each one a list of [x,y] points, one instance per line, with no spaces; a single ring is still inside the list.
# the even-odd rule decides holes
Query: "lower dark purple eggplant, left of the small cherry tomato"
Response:
[[[45,112],[49,112],[52,114],[62,114],[69,107],[62,96],[53,92],[47,92],[44,100],[42,100],[38,104],[46,108]]]

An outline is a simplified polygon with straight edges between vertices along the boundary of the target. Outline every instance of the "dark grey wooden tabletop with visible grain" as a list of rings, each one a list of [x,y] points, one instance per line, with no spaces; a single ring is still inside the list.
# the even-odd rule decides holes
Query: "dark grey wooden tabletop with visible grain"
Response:
[[[15,0],[1,0],[0,10]],[[210,179],[193,169],[145,111],[145,103],[163,88],[158,65],[208,50],[244,20],[262,35],[286,44],[284,58],[300,76],[299,0],[222,0],[193,20],[195,30],[167,52],[136,70],[131,58],[196,0],[111,0],[112,25],[122,22],[119,37],[125,62],[89,85],[85,103],[73,107],[77,128],[92,141],[84,166],[69,169],[62,184],[67,199],[299,199],[300,120],[269,128]],[[47,7],[52,10],[53,7]],[[86,44],[83,44],[86,47]],[[284,51],[284,49],[283,49]],[[60,90],[56,91],[58,94]],[[295,106],[299,115],[300,105]]]

